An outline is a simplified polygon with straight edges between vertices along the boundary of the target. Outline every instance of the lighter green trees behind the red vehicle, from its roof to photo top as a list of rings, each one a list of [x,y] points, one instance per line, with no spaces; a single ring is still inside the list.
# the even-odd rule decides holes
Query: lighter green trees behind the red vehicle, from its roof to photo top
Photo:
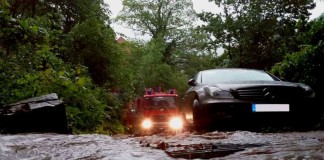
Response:
[[[157,86],[176,88],[180,95],[184,94],[187,70],[197,71],[194,68],[201,65],[192,57],[199,59],[197,54],[204,52],[207,40],[205,33],[194,29],[194,21],[196,14],[190,0],[123,1],[117,22],[133,26],[134,32],[151,36],[146,44],[129,46],[130,83],[137,96],[143,95],[144,88]]]

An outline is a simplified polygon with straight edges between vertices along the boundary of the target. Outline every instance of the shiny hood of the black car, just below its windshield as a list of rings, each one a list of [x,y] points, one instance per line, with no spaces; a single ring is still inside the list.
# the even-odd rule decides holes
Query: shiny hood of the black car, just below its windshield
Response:
[[[242,82],[227,82],[211,84],[210,86],[215,86],[221,90],[236,90],[239,88],[249,88],[249,87],[264,87],[264,86],[278,86],[278,87],[300,87],[298,83],[286,82],[286,81],[242,81]]]

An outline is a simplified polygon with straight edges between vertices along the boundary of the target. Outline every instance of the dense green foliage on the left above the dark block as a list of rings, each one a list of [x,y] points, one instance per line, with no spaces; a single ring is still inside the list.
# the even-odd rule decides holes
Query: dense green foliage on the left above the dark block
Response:
[[[73,31],[66,35],[60,26],[62,23],[53,18],[54,13],[38,16],[42,7],[55,5],[39,4],[36,12],[31,13],[13,7],[20,8],[25,5],[28,8],[32,7],[32,4],[13,6],[14,1],[8,2],[11,10],[4,7],[0,12],[0,105],[55,92],[64,102],[68,124],[73,133],[123,132],[123,101],[108,91],[109,86],[120,85],[118,78],[104,79],[107,88],[98,87],[92,79],[97,70],[93,70],[91,65],[84,66],[89,64],[84,63],[84,59],[75,60],[74,63],[67,63],[62,59],[67,51],[76,48],[76,41],[69,41],[69,38],[88,40],[84,48],[77,48],[71,54],[74,54],[76,59],[87,56],[87,60],[92,62],[90,64],[95,64],[96,61],[109,62],[100,64],[108,66],[103,74],[118,77],[122,75],[118,70],[122,57],[119,55],[113,31],[104,25],[104,21],[99,20],[104,18],[85,18],[83,23],[76,25]],[[20,12],[13,13],[13,9]],[[55,14],[64,17],[62,13]],[[77,23],[79,22],[75,24]],[[92,32],[87,34],[89,31]],[[71,47],[68,44],[73,45]],[[78,57],[76,53],[82,55]]]

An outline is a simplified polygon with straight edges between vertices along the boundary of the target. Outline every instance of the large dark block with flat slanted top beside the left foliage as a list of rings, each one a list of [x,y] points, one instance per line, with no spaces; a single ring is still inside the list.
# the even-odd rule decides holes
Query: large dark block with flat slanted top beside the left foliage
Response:
[[[69,133],[66,111],[56,93],[0,107],[0,133]]]

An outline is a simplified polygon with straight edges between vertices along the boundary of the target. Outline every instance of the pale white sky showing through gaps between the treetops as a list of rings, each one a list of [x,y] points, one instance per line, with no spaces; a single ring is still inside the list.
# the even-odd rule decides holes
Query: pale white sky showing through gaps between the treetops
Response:
[[[109,5],[109,9],[111,11],[111,18],[115,18],[118,13],[122,10],[122,0],[104,0],[105,3]],[[193,2],[193,8],[197,13],[201,13],[202,11],[215,11],[216,5],[212,2],[209,2],[208,0],[192,0]],[[310,12],[312,15],[310,16],[310,19],[314,19],[318,16],[320,16],[322,13],[324,13],[324,1],[323,0],[315,0],[316,2],[316,8],[311,10]],[[123,33],[128,37],[134,38],[134,39],[149,39],[147,36],[142,36],[139,33],[134,33],[133,30],[124,28],[118,24],[113,23],[112,28],[115,30],[115,32]]]

